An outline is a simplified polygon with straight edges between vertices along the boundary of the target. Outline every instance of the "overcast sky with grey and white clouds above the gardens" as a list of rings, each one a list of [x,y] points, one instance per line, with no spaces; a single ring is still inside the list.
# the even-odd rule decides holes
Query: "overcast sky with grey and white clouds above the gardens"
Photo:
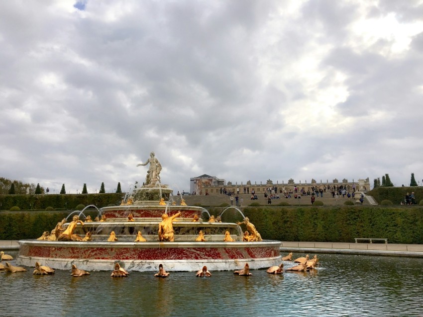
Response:
[[[422,0],[0,2],[0,176],[422,185]]]

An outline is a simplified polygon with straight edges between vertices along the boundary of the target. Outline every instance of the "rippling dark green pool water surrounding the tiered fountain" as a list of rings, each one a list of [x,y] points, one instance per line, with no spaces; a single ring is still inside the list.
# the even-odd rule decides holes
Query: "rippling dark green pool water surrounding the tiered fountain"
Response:
[[[15,256],[17,251],[6,253]],[[285,254],[283,254],[285,255]],[[294,257],[305,254],[295,253]],[[312,257],[314,253],[311,253]],[[308,273],[0,273],[1,316],[423,316],[423,259],[318,254]],[[12,261],[13,262],[13,261]],[[293,266],[284,262],[285,267]],[[166,269],[166,267],[165,267]],[[199,268],[200,269],[200,268]]]

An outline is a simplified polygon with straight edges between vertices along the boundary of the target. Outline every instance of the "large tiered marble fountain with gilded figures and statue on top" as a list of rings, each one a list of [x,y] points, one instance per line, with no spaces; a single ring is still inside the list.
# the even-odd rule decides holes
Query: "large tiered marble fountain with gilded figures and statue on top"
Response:
[[[83,212],[75,213],[72,222],[59,223],[47,240],[20,240],[16,262],[69,270],[72,264],[110,270],[119,262],[132,271],[157,271],[160,263],[174,271],[197,271],[204,265],[233,270],[245,262],[253,269],[280,264],[279,241],[262,240],[241,212],[241,223],[212,222],[207,210],[187,206],[182,196],[176,205],[172,189],[160,184],[161,164],[154,153],[138,165],[148,163],[144,185],[134,186],[120,206],[100,209],[103,221],[90,222]],[[243,234],[240,225],[248,232]]]

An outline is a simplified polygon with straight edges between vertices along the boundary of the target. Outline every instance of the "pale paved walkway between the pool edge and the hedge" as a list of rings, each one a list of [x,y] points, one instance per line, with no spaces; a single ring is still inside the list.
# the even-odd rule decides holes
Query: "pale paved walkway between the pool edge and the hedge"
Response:
[[[0,250],[18,249],[17,240],[0,240]],[[282,241],[281,251],[423,257],[423,244]]]

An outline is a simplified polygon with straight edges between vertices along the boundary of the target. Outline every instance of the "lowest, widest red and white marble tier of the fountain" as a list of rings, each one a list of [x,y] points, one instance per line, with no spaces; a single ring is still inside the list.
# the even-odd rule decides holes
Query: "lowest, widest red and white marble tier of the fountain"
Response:
[[[197,271],[251,269],[279,265],[280,241],[261,242],[74,242],[20,240],[16,263],[35,262],[55,269],[70,270],[72,264],[84,270],[113,270],[119,262],[130,271]]]

